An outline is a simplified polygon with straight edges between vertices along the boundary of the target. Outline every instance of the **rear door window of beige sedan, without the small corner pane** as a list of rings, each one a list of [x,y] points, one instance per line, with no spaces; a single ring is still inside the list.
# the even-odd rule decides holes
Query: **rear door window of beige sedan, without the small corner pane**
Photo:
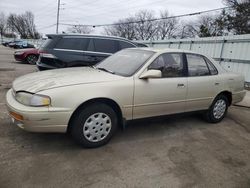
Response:
[[[187,54],[188,75],[189,76],[206,76],[210,75],[207,63],[202,56]]]

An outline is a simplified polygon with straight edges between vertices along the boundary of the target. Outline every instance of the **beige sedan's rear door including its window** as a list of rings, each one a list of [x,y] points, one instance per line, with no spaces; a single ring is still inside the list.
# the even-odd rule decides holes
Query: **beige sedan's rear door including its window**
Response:
[[[187,111],[209,108],[216,96],[219,83],[217,72],[206,58],[197,54],[186,54],[188,64]],[[210,67],[210,69],[209,69]]]

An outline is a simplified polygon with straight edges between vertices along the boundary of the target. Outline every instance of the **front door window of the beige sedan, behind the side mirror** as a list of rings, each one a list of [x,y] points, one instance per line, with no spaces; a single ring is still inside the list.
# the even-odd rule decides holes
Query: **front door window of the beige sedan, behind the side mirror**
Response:
[[[183,76],[183,59],[182,54],[166,53],[160,55],[148,67],[148,69],[157,69],[162,72],[163,78],[182,77]]]

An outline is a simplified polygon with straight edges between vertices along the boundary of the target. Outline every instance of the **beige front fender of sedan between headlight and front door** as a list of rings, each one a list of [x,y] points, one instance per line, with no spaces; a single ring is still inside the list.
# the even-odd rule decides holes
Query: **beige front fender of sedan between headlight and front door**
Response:
[[[116,102],[127,120],[132,119],[133,78],[91,84],[58,87],[41,92],[51,98],[49,111],[68,111],[71,114],[84,102],[107,98]]]

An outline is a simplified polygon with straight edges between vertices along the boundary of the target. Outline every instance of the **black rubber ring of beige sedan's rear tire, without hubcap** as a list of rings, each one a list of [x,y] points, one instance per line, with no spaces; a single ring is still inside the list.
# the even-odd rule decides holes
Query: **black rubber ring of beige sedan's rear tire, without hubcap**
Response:
[[[215,103],[218,101],[218,100],[224,100],[225,103],[226,103],[226,110],[223,114],[223,116],[221,116],[219,119],[215,118],[214,117],[214,113],[213,113],[213,109],[214,109],[214,106],[215,106]],[[215,98],[215,100],[213,101],[213,104],[211,105],[209,111],[207,112],[207,116],[208,116],[208,121],[211,122],[211,123],[218,123],[220,122],[227,114],[227,110],[228,110],[228,99],[226,96],[224,95],[219,95]]]

